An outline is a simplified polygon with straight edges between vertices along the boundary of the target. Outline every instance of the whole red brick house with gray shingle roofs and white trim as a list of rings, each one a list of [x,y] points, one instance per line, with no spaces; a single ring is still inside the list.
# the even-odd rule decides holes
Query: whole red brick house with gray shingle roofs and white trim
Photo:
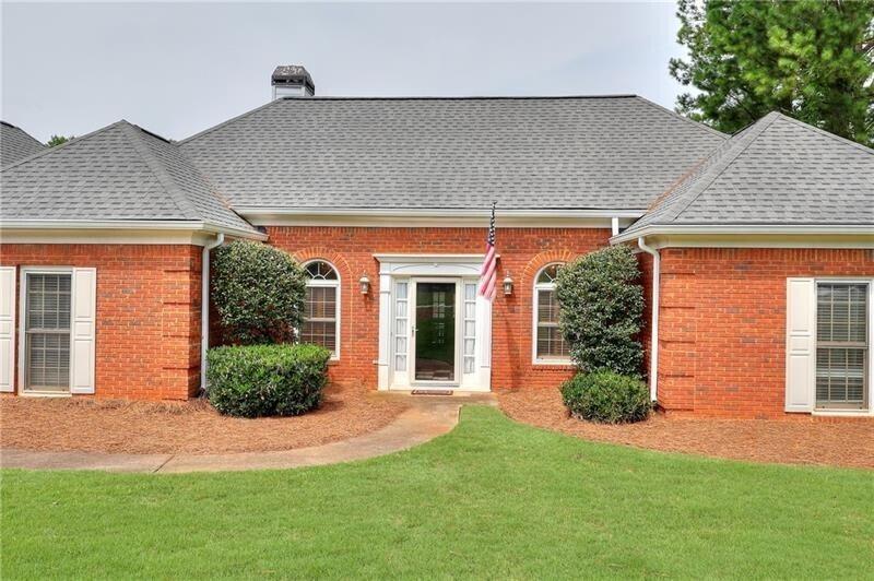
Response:
[[[0,390],[196,395],[210,249],[237,238],[304,264],[302,337],[334,381],[555,389],[556,270],[628,244],[663,410],[874,417],[874,151],[779,114],[725,135],[633,95],[316,97],[302,67],[273,93],[179,142],[119,121],[4,154]]]

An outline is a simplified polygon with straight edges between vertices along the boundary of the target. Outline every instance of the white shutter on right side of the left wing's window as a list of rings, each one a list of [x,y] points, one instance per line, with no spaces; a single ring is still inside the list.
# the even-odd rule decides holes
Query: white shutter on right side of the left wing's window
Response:
[[[94,353],[97,315],[97,271],[73,269],[72,393],[94,393]]]

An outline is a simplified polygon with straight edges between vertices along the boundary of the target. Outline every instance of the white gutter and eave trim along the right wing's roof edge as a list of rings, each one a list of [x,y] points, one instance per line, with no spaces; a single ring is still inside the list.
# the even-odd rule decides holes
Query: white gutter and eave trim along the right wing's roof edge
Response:
[[[610,241],[611,244],[621,244],[631,241],[641,236],[659,236],[659,238],[677,236],[676,238],[669,238],[672,240],[671,246],[693,246],[695,242],[698,242],[697,246],[713,246],[712,237],[719,237],[721,235],[746,235],[746,236],[756,236],[753,239],[743,240],[744,246],[760,246],[763,240],[767,240],[770,238],[770,242],[773,245],[799,245],[805,244],[810,247],[810,244],[813,241],[810,239],[811,236],[817,237],[828,237],[831,236],[834,239],[830,244],[840,244],[843,240],[843,244],[860,244],[860,248],[874,248],[874,226],[872,225],[858,225],[858,224],[849,224],[849,225],[831,225],[831,224],[824,224],[824,225],[816,225],[816,224],[808,224],[808,225],[767,225],[767,224],[748,224],[748,225],[732,225],[732,224],[720,224],[720,225],[650,225],[643,226],[642,228],[635,228],[631,230],[626,230],[618,236],[613,236]],[[681,238],[682,236],[689,236],[690,238]],[[791,237],[798,236],[800,238],[796,239],[786,239],[786,238],[777,238],[777,237]],[[806,238],[805,238],[806,237]],[[858,237],[858,239],[851,239],[851,237]],[[732,240],[731,237],[725,237],[719,240],[721,244],[725,246],[732,246],[741,244],[739,241]],[[828,240],[825,244],[829,244]]]

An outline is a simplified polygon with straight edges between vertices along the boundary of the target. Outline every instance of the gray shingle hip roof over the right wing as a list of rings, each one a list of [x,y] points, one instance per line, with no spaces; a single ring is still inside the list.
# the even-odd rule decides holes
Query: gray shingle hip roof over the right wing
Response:
[[[665,191],[651,225],[874,224],[874,150],[771,112]]]

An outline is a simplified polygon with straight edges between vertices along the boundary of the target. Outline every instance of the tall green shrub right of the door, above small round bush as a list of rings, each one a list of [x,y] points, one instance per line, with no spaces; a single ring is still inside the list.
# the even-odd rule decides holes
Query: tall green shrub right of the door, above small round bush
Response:
[[[604,248],[558,271],[556,296],[570,357],[586,372],[607,369],[640,377],[637,340],[643,289],[637,258],[627,246]]]

